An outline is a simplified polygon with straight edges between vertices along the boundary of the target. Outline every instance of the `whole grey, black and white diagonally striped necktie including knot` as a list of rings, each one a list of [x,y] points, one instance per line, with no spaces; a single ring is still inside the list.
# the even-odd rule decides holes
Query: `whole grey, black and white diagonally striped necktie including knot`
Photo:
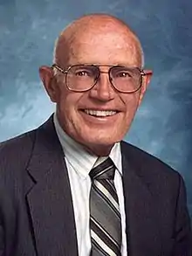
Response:
[[[114,187],[115,166],[108,157],[90,171],[92,256],[120,256],[120,207]]]

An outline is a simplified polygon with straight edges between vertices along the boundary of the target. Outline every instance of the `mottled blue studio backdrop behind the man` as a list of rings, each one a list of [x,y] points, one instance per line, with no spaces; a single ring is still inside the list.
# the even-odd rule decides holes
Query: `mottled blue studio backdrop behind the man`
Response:
[[[154,78],[126,136],[178,170],[192,217],[192,2],[0,0],[0,141],[36,128],[54,109],[38,78],[54,40],[90,12],[122,18],[139,35]]]

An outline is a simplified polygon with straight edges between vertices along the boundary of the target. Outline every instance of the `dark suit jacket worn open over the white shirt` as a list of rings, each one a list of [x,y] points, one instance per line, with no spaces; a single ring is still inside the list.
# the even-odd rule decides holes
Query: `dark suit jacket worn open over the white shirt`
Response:
[[[130,256],[191,256],[182,177],[121,142]],[[77,256],[72,195],[52,118],[0,144],[0,256]]]

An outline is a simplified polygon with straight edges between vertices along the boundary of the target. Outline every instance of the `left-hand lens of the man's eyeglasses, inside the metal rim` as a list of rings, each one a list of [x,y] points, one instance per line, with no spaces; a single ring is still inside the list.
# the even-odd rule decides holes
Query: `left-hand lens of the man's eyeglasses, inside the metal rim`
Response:
[[[98,75],[96,66],[72,66],[66,74],[66,84],[71,90],[86,91],[94,85]]]

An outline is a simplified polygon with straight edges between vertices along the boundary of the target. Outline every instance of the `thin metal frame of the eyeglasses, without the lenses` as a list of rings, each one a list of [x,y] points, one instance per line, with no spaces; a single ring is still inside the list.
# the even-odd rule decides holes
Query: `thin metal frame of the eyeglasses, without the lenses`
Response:
[[[68,66],[68,67],[64,70],[63,68],[61,68],[60,66],[58,66],[57,64],[54,63],[54,64],[51,66],[51,68],[52,68],[52,69],[53,69],[53,68],[56,68],[59,72],[64,73],[64,74],[67,74],[67,73],[69,73],[69,71],[71,70],[71,68],[74,67],[74,66],[94,66],[94,67],[97,67],[98,69],[99,69],[99,66],[107,66],[107,67],[110,67],[107,72],[100,71],[100,69],[99,69],[99,75],[96,77],[93,86],[91,86],[90,88],[85,89],[85,90],[75,90],[75,89],[72,89],[70,86],[68,86],[67,80],[66,80],[67,75],[65,75],[65,85],[66,85],[67,89],[68,89],[69,91],[72,91],[72,92],[75,92],[75,93],[84,93],[84,92],[87,92],[87,91],[92,90],[93,87],[97,84],[97,82],[98,82],[98,80],[99,80],[100,73],[108,73],[108,78],[109,78],[109,81],[110,81],[110,83],[111,83],[111,86],[113,86],[113,88],[114,88],[116,91],[118,91],[119,93],[136,93],[138,90],[140,90],[140,88],[141,88],[141,86],[142,86],[142,78],[143,78],[143,76],[147,75],[147,73],[145,73],[144,70],[141,69],[140,67],[137,67],[137,66],[134,67],[134,68],[136,68],[137,70],[139,70],[139,72],[140,72],[140,80],[139,80],[140,86],[138,86],[138,88],[136,88],[134,91],[123,92],[123,91],[120,91],[118,88],[116,88],[116,86],[113,85],[112,79],[111,79],[111,77],[110,77],[111,69],[112,69],[113,67],[115,67],[115,66],[120,66],[120,65],[113,65],[113,66],[110,66],[110,65],[99,65],[99,66],[98,66],[98,65],[94,65],[94,64],[77,64],[77,65]],[[122,67],[123,67],[123,66],[122,66]]]

